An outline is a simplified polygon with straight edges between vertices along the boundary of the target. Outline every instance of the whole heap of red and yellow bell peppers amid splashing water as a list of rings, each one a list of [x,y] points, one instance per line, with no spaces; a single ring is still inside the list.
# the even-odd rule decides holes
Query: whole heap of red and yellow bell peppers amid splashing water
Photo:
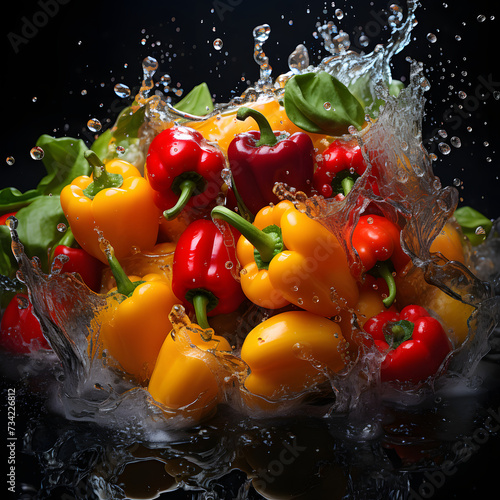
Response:
[[[324,395],[367,351],[381,355],[382,382],[414,388],[445,370],[467,335],[466,321],[400,293],[412,263],[402,227],[376,206],[346,233],[358,266],[306,213],[297,200],[341,202],[367,164],[356,142],[301,130],[275,108],[239,107],[224,147],[208,140],[208,122],[173,122],[151,141],[143,173],[89,150],[91,175],[61,191],[67,237],[50,258],[105,295],[92,332],[99,355],[167,416],[213,415],[228,380],[257,410]],[[231,134],[242,123],[251,130]],[[300,196],[280,199],[277,186]],[[431,251],[464,261],[457,227]],[[0,331],[4,349],[50,349],[25,295],[12,298]]]

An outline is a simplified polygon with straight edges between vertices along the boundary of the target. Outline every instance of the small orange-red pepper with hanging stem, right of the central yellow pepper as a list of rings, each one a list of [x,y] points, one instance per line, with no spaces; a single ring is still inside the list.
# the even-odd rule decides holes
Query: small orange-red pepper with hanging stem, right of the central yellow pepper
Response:
[[[365,271],[384,278],[389,294],[384,299],[390,307],[396,298],[396,283],[392,267],[400,272],[410,261],[401,248],[401,230],[397,224],[381,215],[362,215],[352,233],[352,246],[361,259]]]

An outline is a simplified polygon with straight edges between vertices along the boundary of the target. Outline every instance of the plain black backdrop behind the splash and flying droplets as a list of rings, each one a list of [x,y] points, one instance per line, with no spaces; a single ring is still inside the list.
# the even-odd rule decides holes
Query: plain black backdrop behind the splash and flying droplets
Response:
[[[146,56],[159,61],[157,81],[167,73],[172,87],[184,93],[206,81],[215,100],[225,102],[259,77],[252,57],[255,26],[271,25],[264,49],[276,77],[288,70],[288,55],[299,43],[307,46],[313,63],[327,55],[313,32],[317,22],[334,17],[336,8],[345,13],[337,24],[351,34],[353,48],[359,50],[356,29],[362,27],[373,35],[366,48],[372,50],[388,37],[388,31],[380,29],[380,19],[385,19],[382,10],[390,3],[395,2],[352,1],[348,6],[337,1],[335,7],[332,2],[296,0],[13,2],[9,16],[2,16],[0,188],[15,186],[24,191],[36,186],[44,169],[29,151],[41,134],[81,137],[90,144],[93,134],[86,127],[90,118],[98,118],[103,129],[110,126],[132,100],[118,98],[114,85],[128,85],[133,96]],[[492,91],[500,91],[498,49],[493,43],[500,16],[494,20],[491,16],[498,7],[494,2],[486,6],[465,0],[449,0],[448,7],[430,0],[423,4],[417,12],[414,39],[393,61],[393,76],[408,78],[407,56],[424,63],[431,90],[423,137],[437,156],[435,172],[445,185],[460,183],[463,204],[496,218],[500,212],[496,153],[500,100]],[[486,20],[479,22],[479,15]],[[30,28],[30,23],[38,26]],[[428,33],[437,36],[435,43],[428,41]],[[216,38],[223,41],[220,51],[213,47]],[[488,90],[484,82],[493,88]],[[461,100],[459,91],[465,91],[468,99]],[[458,105],[463,109],[457,111]],[[434,140],[438,129],[447,131],[444,142],[448,144],[451,136],[459,137],[461,148],[452,147],[449,155],[440,153],[436,145],[443,139]],[[5,160],[9,156],[15,158],[12,166]],[[454,476],[440,492],[463,498],[462,493],[481,493],[485,485],[494,485],[497,444],[491,441],[464,474]]]

